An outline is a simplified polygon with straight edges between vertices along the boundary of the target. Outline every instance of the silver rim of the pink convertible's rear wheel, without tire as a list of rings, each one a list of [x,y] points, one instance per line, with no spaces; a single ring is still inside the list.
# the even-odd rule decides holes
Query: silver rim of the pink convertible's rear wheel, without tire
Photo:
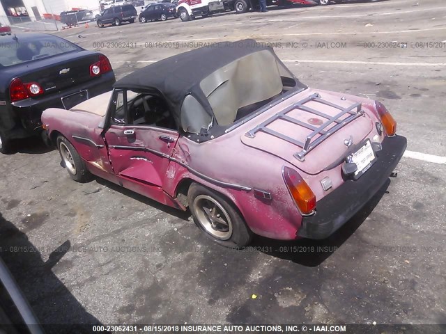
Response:
[[[192,209],[199,223],[210,235],[227,240],[232,235],[232,221],[224,207],[208,195],[194,199]]]

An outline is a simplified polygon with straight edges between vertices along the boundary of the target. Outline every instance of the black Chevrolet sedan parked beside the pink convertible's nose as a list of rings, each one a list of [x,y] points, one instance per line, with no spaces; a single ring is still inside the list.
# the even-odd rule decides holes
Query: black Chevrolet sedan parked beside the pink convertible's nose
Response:
[[[38,134],[47,108],[70,109],[112,90],[108,58],[54,35],[26,33],[1,38],[0,152],[16,138]]]

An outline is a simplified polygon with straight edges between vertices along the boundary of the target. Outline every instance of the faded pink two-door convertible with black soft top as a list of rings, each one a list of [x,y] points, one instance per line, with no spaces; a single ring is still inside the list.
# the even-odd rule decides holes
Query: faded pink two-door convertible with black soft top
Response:
[[[383,104],[308,88],[254,40],[166,58],[42,120],[72,179],[189,207],[206,235],[236,248],[253,234],[330,236],[406,149]]]

